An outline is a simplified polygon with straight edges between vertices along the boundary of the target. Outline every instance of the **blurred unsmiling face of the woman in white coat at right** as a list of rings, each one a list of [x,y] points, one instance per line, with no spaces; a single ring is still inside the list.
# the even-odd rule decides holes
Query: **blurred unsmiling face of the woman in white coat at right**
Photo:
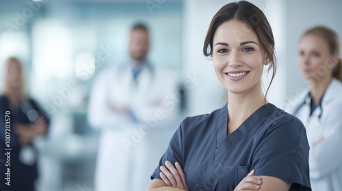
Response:
[[[328,44],[316,35],[304,35],[299,43],[298,67],[306,80],[321,80],[332,73],[334,62]]]

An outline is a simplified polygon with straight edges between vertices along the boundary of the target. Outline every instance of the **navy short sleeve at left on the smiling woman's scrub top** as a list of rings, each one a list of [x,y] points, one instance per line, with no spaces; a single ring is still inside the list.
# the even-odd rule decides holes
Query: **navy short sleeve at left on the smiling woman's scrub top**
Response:
[[[183,125],[185,123],[184,119],[179,126],[179,128],[176,130],[174,135],[172,136],[168,149],[166,149],[166,152],[163,154],[161,159],[159,160],[159,164],[157,168],[155,168],[155,171],[151,175],[150,179],[161,179],[159,173],[160,171],[160,166],[165,166],[165,161],[168,160],[172,164],[175,162],[179,162],[181,166],[184,166],[184,155],[183,155]]]

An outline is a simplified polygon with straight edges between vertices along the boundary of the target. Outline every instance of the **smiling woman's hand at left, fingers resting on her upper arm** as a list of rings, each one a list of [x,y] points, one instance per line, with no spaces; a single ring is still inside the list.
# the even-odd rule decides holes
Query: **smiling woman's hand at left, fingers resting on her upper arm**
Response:
[[[159,174],[164,183],[173,188],[189,190],[181,164],[176,162],[174,164],[176,168],[174,168],[172,163],[166,160],[165,166],[160,166],[161,173]]]

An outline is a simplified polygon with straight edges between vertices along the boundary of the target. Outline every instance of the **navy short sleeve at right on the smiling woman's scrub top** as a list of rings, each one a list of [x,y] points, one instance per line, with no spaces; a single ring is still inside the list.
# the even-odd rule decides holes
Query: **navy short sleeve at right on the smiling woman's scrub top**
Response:
[[[302,122],[283,117],[267,130],[254,153],[255,175],[277,177],[292,183],[290,190],[311,190],[308,141]]]

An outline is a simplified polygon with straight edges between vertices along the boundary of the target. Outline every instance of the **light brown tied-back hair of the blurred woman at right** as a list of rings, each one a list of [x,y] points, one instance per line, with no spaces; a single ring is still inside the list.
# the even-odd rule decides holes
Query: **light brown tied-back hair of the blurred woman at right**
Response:
[[[339,54],[339,36],[337,33],[332,31],[332,29],[328,29],[327,27],[313,27],[308,29],[302,37],[305,35],[315,35],[319,38],[322,38],[326,44],[328,44],[329,52],[331,55]],[[337,65],[334,66],[332,70],[332,76],[339,80],[342,80],[342,67],[341,67],[341,59],[337,62]]]

